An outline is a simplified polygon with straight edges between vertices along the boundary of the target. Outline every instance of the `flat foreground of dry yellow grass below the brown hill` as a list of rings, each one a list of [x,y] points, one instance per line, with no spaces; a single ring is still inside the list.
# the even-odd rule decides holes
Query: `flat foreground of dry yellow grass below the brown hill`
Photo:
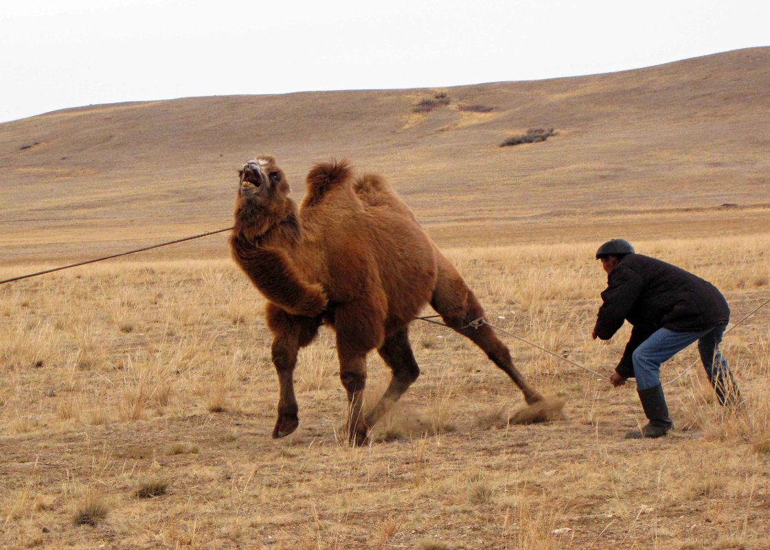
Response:
[[[734,321],[766,299],[764,288],[742,284],[768,272],[757,253],[770,248],[766,236],[634,245],[718,284]],[[594,246],[450,257],[495,325],[608,375],[628,329],[608,343],[590,339],[605,277]],[[116,322],[116,302],[133,308],[136,330]],[[770,536],[768,311],[725,336],[745,412],[725,414],[695,365],[666,387],[674,435],[634,443],[622,438],[641,421],[632,389],[502,335],[527,378],[567,401],[564,418],[512,425],[522,402],[504,375],[464,338],[417,322],[423,375],[373,443],[350,448],[328,331],[300,354],[300,428],[269,438],[276,380],[261,302],[219,260],[102,264],[0,288],[9,312],[0,317],[0,541],[758,550]],[[238,322],[233,311],[243,312]],[[665,365],[664,381],[695,356]],[[35,357],[46,359],[36,366]],[[387,377],[372,355],[368,402]],[[42,538],[40,525],[50,531]]]

